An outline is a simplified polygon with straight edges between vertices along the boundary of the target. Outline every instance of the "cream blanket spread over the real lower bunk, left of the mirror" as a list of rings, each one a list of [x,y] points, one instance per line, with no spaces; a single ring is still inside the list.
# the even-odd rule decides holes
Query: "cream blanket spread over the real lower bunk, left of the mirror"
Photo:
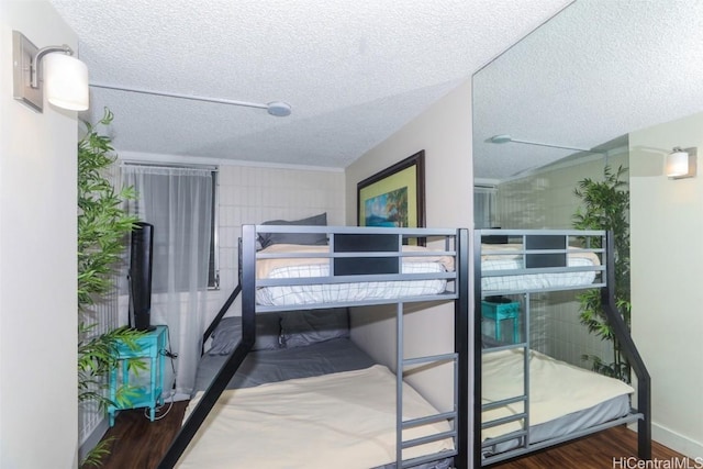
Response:
[[[186,417],[202,392],[190,402]],[[403,387],[403,418],[437,411]],[[449,429],[442,422],[404,440]],[[450,438],[410,448],[412,458],[454,448]],[[358,469],[395,460],[395,376],[370,368],[224,391],[179,468]]]

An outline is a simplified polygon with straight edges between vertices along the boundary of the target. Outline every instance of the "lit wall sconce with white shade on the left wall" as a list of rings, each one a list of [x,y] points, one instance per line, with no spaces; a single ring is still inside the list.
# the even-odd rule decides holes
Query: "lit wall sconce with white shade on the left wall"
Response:
[[[88,67],[72,54],[67,45],[37,48],[24,34],[13,31],[14,99],[43,112],[46,92],[48,102],[56,107],[88,109]]]

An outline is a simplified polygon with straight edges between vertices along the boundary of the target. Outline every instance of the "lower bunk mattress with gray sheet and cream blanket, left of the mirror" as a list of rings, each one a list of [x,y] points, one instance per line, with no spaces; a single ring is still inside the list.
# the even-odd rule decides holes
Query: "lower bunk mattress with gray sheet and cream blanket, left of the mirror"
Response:
[[[226,356],[204,355],[197,387],[205,389]],[[249,353],[179,468],[394,468],[395,375],[349,338]],[[186,417],[202,397],[198,391]],[[404,418],[437,411],[403,387]],[[405,440],[449,431],[440,422],[405,431]],[[405,459],[451,451],[451,438],[404,450]],[[451,458],[419,466],[446,469]]]

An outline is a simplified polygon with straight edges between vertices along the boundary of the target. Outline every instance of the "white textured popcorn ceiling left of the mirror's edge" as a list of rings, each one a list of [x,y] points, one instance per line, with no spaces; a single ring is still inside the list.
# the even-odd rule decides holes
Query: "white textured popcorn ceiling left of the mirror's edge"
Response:
[[[568,0],[51,0],[92,82],[266,103],[91,88],[119,152],[344,168]],[[605,3],[605,2],[602,2]]]

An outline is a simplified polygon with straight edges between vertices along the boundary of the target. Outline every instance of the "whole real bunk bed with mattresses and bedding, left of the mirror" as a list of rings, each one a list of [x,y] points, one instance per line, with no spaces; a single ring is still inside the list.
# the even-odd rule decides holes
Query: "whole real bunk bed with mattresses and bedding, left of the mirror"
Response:
[[[323,236],[327,243],[257,250],[265,233]],[[223,321],[236,321],[219,320],[241,290],[234,327],[241,338],[227,355],[203,355],[214,378],[201,384],[158,467],[468,467],[468,244],[467,230],[243,226],[241,287],[217,315],[220,324],[207,332],[217,336]],[[450,353],[404,356],[404,304],[416,302],[454,302]],[[320,320],[380,304],[397,305],[394,372],[375,365],[346,333],[316,343]],[[290,333],[301,317],[311,334]],[[265,324],[279,324],[269,336],[288,340],[277,347]],[[304,346],[292,347],[295,340]],[[434,366],[454,369],[449,410],[436,410],[403,379],[408,370]]]

